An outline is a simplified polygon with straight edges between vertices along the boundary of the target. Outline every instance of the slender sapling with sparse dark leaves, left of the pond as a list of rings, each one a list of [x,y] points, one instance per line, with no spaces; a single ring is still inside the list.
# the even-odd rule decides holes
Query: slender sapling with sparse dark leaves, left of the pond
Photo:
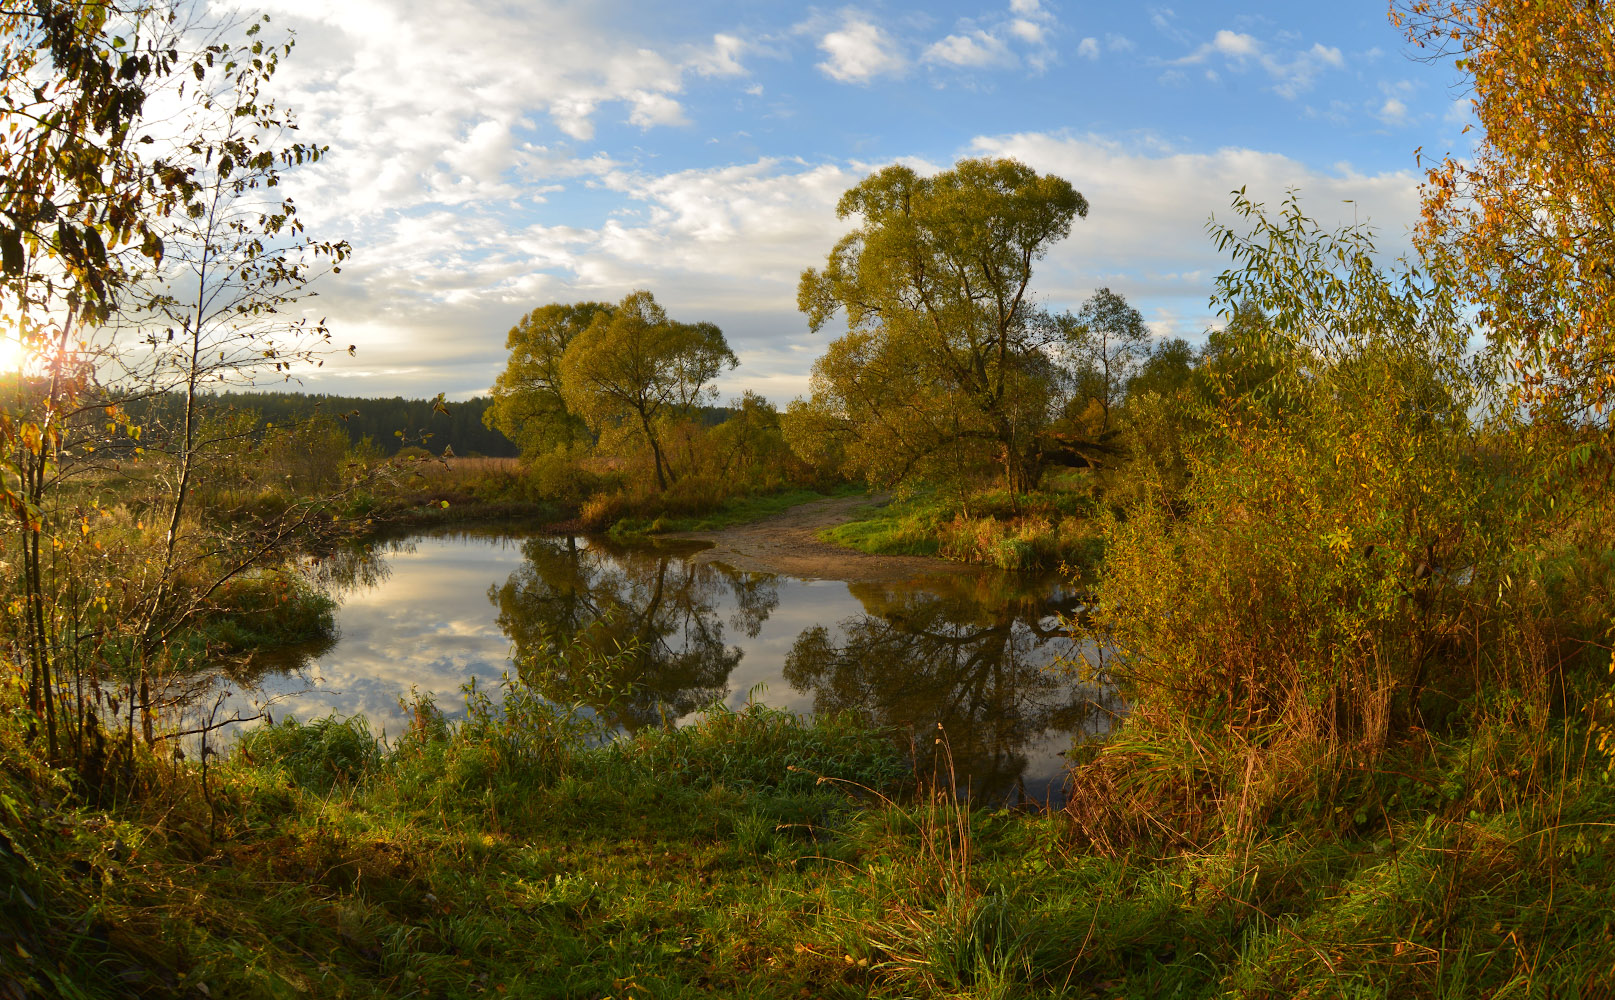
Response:
[[[266,19],[250,24],[241,44],[215,39],[205,47],[215,58],[194,74],[187,134],[174,141],[184,152],[189,197],[182,212],[155,221],[163,257],[131,284],[145,300],[124,310],[145,331],[145,351],[116,355],[120,401],[170,394],[181,401],[173,426],[158,420],[144,428],[171,464],[155,477],[162,496],[153,501],[153,514],[166,532],[144,588],[144,607],[132,622],[139,632],[134,659],[142,670],[142,704],[149,703],[145,662],[158,648],[220,586],[304,527],[300,517],[266,523],[237,517],[226,532],[187,519],[203,465],[244,444],[233,422],[215,420],[229,405],[221,405],[215,393],[254,384],[263,375],[291,378],[296,363],[323,363],[318,354],[331,341],[325,321],[308,323],[289,313],[312,294],[307,286],[323,262],[339,271],[349,254],[346,242],[310,239],[292,199],[278,192],[283,170],[318,162],[326,147],[289,142],[296,120],[263,97],[279,60],[292,50],[289,39],[279,45],[258,39]],[[284,436],[287,428],[281,430]],[[326,439],[321,456],[333,454],[333,433],[342,436],[329,415],[300,430],[292,438]],[[334,488],[338,468],[304,483]],[[308,502],[302,512],[317,507]],[[202,565],[212,569],[200,574],[205,582],[181,595],[178,578],[195,578]],[[152,738],[150,714],[145,722],[145,737]]]

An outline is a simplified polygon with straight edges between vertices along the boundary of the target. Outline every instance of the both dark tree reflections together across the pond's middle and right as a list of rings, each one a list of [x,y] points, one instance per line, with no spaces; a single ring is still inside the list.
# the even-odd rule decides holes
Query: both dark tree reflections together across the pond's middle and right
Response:
[[[772,658],[753,666],[796,691],[790,708],[856,712],[925,746],[940,722],[961,782],[990,800],[1042,798],[1071,737],[1103,725],[1105,691],[1050,669],[1072,653],[1061,616],[1077,607],[1051,580],[961,570],[827,588],[690,551],[523,541],[522,567],[489,590],[523,677],[636,732],[733,701],[741,661]],[[770,643],[782,598],[790,638]],[[606,677],[586,669],[602,654]]]

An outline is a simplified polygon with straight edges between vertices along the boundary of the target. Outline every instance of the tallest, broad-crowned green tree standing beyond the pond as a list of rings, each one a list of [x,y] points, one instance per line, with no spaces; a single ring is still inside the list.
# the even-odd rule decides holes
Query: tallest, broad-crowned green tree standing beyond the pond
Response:
[[[791,404],[791,444],[882,486],[974,488],[996,470],[1009,496],[1050,465],[1098,464],[1148,354],[1143,317],[1110,289],[1076,315],[1032,297],[1032,265],[1087,210],[1068,181],[1014,160],[888,166],[848,191],[837,215],[861,225],[796,296],[812,330],[840,312],[848,333]]]

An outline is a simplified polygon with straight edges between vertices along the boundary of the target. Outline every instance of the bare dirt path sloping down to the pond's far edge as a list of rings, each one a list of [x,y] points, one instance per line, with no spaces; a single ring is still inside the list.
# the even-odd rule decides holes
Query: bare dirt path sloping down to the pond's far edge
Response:
[[[930,574],[958,572],[956,562],[924,556],[866,556],[819,541],[817,533],[853,520],[859,507],[882,504],[885,498],[838,496],[791,507],[767,520],[719,532],[680,532],[669,538],[711,541],[696,553],[696,562],[722,562],[740,570],[785,574],[804,580],[901,580]]]

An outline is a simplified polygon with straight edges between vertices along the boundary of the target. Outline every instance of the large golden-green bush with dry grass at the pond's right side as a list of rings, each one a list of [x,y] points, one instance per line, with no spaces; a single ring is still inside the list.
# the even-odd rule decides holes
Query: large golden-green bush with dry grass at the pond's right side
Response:
[[[1441,286],[1381,275],[1350,234],[1307,252],[1308,226],[1258,221],[1223,279],[1276,313],[1240,346],[1266,381],[1214,386],[1182,493],[1145,480],[1106,525],[1092,638],[1134,714],[1074,772],[1097,840],[1161,829],[1147,816],[1197,847],[1319,800],[1352,816],[1349,775],[1444,719],[1546,738],[1610,607],[1563,541],[1602,501],[1550,507],[1533,456],[1554,447],[1473,422],[1486,383]],[[1315,271],[1336,250],[1350,281]]]

